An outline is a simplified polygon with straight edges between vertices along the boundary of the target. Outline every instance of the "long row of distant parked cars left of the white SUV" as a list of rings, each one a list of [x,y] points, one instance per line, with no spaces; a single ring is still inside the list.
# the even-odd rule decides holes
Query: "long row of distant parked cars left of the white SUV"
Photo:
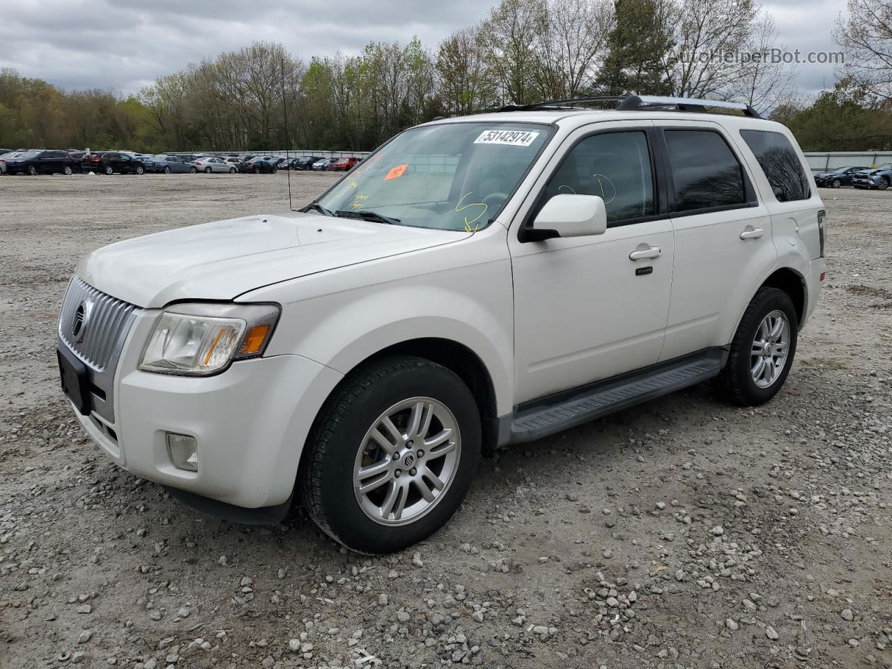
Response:
[[[288,158],[271,155],[208,155],[203,153],[133,153],[130,151],[57,151],[0,149],[0,174],[155,174],[218,172],[275,174],[279,169],[347,171],[359,158]]]

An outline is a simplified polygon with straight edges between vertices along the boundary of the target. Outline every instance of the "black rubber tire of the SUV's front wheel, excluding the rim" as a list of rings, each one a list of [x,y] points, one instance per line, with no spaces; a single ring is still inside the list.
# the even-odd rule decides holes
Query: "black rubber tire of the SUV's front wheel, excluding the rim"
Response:
[[[354,463],[377,417],[414,397],[442,402],[455,417],[461,438],[457,468],[442,497],[417,520],[379,524],[354,494]],[[399,357],[359,368],[328,398],[310,430],[298,476],[304,508],[335,541],[362,553],[390,553],[421,541],[440,529],[464,500],[480,459],[480,423],[474,395],[441,365]]]

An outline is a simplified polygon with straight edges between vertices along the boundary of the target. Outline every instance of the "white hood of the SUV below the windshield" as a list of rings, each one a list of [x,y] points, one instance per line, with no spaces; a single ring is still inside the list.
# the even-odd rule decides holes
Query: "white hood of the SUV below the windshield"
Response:
[[[111,244],[78,277],[139,307],[233,300],[263,285],[450,244],[469,233],[289,211],[180,227]]]

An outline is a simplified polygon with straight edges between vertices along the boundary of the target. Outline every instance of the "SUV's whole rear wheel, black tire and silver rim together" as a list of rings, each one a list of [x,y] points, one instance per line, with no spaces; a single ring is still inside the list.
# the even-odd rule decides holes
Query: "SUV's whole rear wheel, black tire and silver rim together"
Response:
[[[771,400],[793,364],[798,329],[789,295],[778,288],[760,288],[740,319],[718,379],[725,396],[745,406]]]

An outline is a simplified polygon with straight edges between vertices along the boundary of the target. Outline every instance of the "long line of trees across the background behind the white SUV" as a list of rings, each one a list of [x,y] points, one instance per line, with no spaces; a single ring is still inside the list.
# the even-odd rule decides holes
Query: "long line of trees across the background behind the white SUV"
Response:
[[[855,19],[835,33],[847,54],[840,84],[808,103],[791,102],[795,66],[726,57],[783,48],[758,0],[501,0],[433,47],[373,42],[357,55],[304,58],[258,42],[127,96],[0,70],[0,146],[363,151],[440,115],[641,93],[749,103],[806,150],[884,148],[888,17],[862,25],[860,5],[888,3],[850,4]]]

